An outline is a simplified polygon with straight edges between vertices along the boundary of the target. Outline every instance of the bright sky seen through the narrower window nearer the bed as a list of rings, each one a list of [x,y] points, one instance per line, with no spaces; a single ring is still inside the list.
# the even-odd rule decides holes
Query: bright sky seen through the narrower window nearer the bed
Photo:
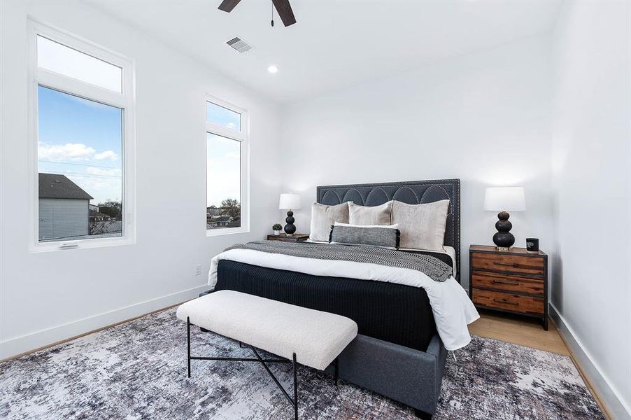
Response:
[[[206,102],[206,120],[241,131],[241,114]],[[241,202],[241,142],[206,134],[206,204],[219,206],[232,198]]]

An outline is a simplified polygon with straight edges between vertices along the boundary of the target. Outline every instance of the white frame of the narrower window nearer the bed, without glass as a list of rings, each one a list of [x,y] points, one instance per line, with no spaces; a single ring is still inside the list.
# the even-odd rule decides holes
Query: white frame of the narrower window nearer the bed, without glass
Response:
[[[231,129],[224,125],[211,123],[207,120],[206,106],[208,102],[221,106],[222,108],[234,111],[241,115],[241,130]],[[221,235],[234,235],[250,232],[250,116],[246,109],[230,104],[229,102],[206,94],[204,101],[204,121],[206,122],[206,132],[204,132],[204,148],[206,156],[204,169],[206,173],[206,208],[208,206],[208,134],[216,134],[227,139],[236,140],[241,143],[241,226],[239,228],[206,228],[206,237]],[[204,224],[206,225],[206,208],[204,208]]]

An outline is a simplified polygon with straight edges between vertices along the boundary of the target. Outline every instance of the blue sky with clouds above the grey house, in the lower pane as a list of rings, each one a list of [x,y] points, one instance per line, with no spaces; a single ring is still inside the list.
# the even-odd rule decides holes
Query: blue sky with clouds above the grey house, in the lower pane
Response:
[[[64,174],[91,204],[122,198],[122,110],[38,87],[39,172]]]

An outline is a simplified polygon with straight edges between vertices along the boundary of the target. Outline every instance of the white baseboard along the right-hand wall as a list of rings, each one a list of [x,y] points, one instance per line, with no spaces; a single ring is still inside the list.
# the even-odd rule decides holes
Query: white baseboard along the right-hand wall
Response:
[[[572,327],[565,321],[565,318],[559,314],[558,309],[551,303],[550,304],[550,316],[556,323],[560,334],[565,343],[572,351],[576,360],[579,361],[583,373],[587,375],[590,380],[591,386],[595,388],[595,392],[598,394],[602,404],[607,407],[609,414],[615,420],[630,420],[631,408],[625,404],[621,394],[613,388],[607,377],[602,373],[598,364],[593,360],[592,356],[581,343]]]

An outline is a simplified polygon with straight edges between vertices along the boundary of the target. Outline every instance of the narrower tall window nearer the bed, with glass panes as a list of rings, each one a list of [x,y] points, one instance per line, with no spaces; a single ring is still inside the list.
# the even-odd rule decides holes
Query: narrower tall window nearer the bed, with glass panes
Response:
[[[248,116],[218,99],[206,102],[206,231],[248,231]]]

